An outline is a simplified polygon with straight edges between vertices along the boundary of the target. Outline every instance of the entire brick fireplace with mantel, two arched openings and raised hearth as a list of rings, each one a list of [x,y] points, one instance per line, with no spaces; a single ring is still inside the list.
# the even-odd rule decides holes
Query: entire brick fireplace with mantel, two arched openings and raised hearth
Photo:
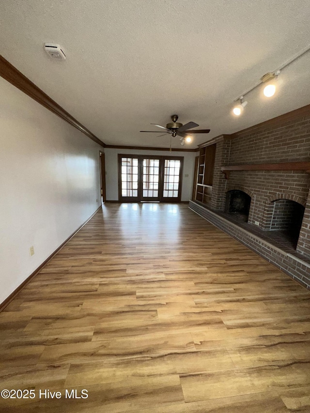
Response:
[[[215,144],[211,195],[190,208],[310,288],[310,105]]]

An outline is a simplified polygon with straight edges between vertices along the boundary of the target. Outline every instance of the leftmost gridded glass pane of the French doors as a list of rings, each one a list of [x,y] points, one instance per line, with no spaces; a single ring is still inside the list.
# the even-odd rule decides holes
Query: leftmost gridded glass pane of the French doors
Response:
[[[138,199],[138,158],[121,159],[121,197]]]

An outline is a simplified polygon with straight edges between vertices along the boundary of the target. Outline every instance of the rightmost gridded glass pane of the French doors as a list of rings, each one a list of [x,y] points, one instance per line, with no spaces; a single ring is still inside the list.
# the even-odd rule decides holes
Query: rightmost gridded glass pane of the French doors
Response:
[[[179,200],[181,161],[165,159],[163,198],[166,201]]]

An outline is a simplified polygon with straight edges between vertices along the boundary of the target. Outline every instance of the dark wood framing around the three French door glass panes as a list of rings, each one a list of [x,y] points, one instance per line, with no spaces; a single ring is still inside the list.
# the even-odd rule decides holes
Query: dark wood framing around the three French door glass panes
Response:
[[[138,158],[138,197],[130,199],[129,197],[122,197],[122,158]],[[159,185],[158,191],[159,197],[158,200],[142,200],[142,176],[143,176],[143,159],[159,159]],[[180,175],[179,175],[179,190],[178,190],[178,197],[176,198],[163,198],[163,183],[164,183],[164,165],[165,160],[179,160],[180,161]],[[117,155],[117,163],[118,163],[118,200],[119,202],[181,202],[182,196],[182,178],[183,178],[183,164],[184,164],[184,156],[165,156],[165,155],[135,155],[129,153],[118,153]]]

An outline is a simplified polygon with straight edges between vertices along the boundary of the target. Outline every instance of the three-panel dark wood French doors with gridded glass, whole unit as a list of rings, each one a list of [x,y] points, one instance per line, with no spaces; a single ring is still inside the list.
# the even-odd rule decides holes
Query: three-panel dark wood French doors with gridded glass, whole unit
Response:
[[[119,200],[180,202],[183,159],[119,154]]]

